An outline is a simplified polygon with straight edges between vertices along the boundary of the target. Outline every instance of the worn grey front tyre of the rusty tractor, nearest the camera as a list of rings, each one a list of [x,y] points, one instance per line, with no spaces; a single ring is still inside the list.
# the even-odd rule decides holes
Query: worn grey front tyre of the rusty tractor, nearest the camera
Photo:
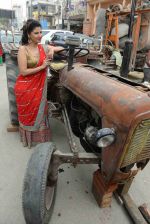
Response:
[[[54,149],[50,142],[39,144],[28,162],[22,195],[27,224],[48,224],[51,218],[57,185],[50,185],[48,178]]]

